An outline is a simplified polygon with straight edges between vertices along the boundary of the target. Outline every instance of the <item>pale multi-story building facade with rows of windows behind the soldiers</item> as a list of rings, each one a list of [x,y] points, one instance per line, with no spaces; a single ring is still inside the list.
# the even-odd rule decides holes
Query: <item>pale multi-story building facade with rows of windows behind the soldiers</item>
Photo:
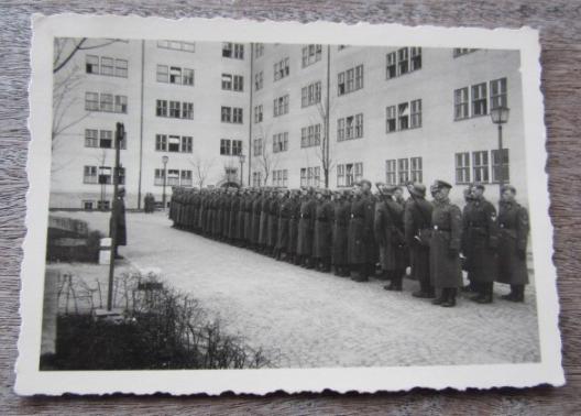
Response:
[[[66,114],[80,121],[54,141],[66,142],[53,146],[54,208],[110,199],[112,189],[103,197],[107,185],[95,182],[110,175],[117,121],[127,130],[121,162],[131,208],[145,193],[161,200],[165,172],[167,193],[241,178],[330,188],[363,177],[394,185],[439,178],[490,185],[495,200],[501,171],[490,110],[497,106],[511,108],[503,179],[527,195],[518,52],[129,41],[74,59],[85,69],[75,89],[85,106]]]

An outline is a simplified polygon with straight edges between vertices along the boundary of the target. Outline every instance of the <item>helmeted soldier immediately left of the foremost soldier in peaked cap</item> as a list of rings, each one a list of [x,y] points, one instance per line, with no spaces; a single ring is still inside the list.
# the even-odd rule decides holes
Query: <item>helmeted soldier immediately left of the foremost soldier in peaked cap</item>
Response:
[[[408,188],[409,199],[404,211],[404,233],[409,250],[412,277],[419,282],[419,291],[412,296],[435,297],[429,273],[429,243],[431,238],[431,202],[426,200],[426,187],[413,184]]]

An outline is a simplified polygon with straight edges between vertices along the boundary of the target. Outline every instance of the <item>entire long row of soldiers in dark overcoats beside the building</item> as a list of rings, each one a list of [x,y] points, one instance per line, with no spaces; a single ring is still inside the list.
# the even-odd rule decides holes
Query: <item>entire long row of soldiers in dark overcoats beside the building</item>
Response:
[[[493,302],[494,282],[511,285],[503,298],[524,300],[528,283],[526,247],[528,216],[515,200],[516,189],[502,188],[498,215],[484,198],[484,186],[464,191],[463,211],[449,199],[452,186],[401,187],[369,180],[353,188],[175,188],[169,218],[174,227],[250,248],[306,269],[333,271],[365,282],[390,281],[384,288],[402,291],[410,277],[419,282],[413,295],[435,305],[456,305],[458,289],[474,292],[474,302]],[[463,287],[462,269],[470,285]]]

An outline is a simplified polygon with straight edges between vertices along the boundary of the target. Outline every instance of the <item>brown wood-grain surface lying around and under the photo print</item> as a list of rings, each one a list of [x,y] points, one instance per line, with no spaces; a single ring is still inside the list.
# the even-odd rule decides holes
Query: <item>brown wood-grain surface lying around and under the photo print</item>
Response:
[[[561,302],[567,385],[485,392],[335,393],[265,397],[18,397],[13,393],[20,326],[21,244],[25,234],[30,17],[34,12],[166,18],[216,15],[302,22],[329,20],[540,31],[548,129],[550,215]],[[17,1],[0,3],[0,413],[2,414],[581,414],[581,1]],[[539,166],[539,168],[542,168]],[[538,184],[544,187],[545,184]],[[542,278],[542,276],[538,276]]]

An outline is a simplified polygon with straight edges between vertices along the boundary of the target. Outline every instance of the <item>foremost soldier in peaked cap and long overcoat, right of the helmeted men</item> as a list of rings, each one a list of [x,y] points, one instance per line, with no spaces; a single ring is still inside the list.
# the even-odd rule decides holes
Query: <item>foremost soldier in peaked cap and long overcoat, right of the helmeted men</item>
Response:
[[[435,198],[431,212],[430,282],[440,292],[432,303],[445,307],[456,306],[456,295],[462,286],[462,214],[448,198],[451,188],[443,180],[436,180],[430,188]]]

